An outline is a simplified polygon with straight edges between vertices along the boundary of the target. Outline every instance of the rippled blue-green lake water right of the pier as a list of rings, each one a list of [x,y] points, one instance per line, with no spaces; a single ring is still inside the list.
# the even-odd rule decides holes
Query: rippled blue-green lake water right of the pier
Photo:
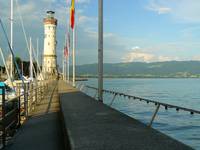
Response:
[[[97,87],[97,79],[81,82]],[[105,79],[104,89],[123,92],[129,95],[200,110],[200,79]],[[88,90],[91,96],[95,91]],[[111,95],[104,95],[104,102],[110,104]],[[148,124],[155,111],[154,104],[116,97],[113,108]],[[200,114],[165,110],[160,108],[153,128],[200,150]]]

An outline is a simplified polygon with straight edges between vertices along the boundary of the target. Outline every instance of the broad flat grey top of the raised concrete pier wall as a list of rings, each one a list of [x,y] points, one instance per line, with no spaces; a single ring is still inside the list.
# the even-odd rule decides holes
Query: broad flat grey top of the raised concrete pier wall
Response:
[[[68,86],[60,103],[71,150],[191,150]],[[69,92],[70,91],[70,92]]]

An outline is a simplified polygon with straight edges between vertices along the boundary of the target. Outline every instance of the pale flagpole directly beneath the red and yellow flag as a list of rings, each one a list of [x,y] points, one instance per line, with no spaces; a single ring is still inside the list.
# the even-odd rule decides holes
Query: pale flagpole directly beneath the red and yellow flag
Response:
[[[72,82],[73,82],[73,87],[75,87],[76,86],[76,83],[75,83],[75,77],[76,77],[76,75],[75,75],[75,73],[76,73],[76,56],[75,56],[75,27],[76,26],[74,26],[74,29],[73,29],[73,50],[72,50],[72,62],[73,62],[73,80],[72,80]]]

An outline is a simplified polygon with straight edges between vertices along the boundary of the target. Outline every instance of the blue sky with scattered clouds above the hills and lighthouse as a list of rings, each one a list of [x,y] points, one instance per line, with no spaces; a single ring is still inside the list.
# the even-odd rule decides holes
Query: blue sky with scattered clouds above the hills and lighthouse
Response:
[[[18,1],[16,3],[16,1]],[[43,18],[53,10],[58,19],[57,55],[61,65],[70,0],[14,0],[14,52],[28,59],[20,24],[43,53]],[[0,17],[10,35],[10,1],[0,0]],[[71,31],[70,31],[71,32]],[[98,0],[76,0],[76,62],[98,60]],[[71,37],[72,39],[72,37]],[[71,40],[72,41],[72,40]],[[71,44],[72,45],[72,44]],[[0,29],[0,47],[8,46]],[[200,60],[199,0],[104,0],[104,62]]]

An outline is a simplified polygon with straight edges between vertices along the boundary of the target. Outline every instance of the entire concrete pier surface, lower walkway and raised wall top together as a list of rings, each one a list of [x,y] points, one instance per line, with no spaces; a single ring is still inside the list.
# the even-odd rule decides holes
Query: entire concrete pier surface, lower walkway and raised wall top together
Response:
[[[58,84],[51,86],[46,98],[6,148],[6,150],[44,149],[191,150],[192,148],[59,81]]]

